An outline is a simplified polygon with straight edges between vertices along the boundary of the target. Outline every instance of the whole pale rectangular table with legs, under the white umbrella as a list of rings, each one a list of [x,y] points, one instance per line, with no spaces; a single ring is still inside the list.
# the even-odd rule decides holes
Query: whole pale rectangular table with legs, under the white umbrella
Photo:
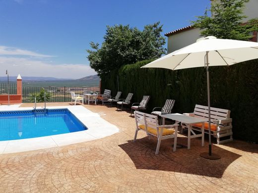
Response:
[[[163,125],[165,125],[165,119],[172,119],[176,121],[176,124],[184,123],[188,127],[188,145],[187,148],[190,149],[191,145],[191,139],[192,138],[198,138],[201,137],[201,146],[204,146],[204,122],[208,121],[207,119],[197,118],[197,117],[191,117],[188,115],[180,114],[180,113],[174,113],[174,114],[164,114],[160,115],[163,120]],[[202,123],[201,128],[201,134],[195,134],[192,129],[192,124],[194,123]],[[191,135],[191,133],[193,135]]]

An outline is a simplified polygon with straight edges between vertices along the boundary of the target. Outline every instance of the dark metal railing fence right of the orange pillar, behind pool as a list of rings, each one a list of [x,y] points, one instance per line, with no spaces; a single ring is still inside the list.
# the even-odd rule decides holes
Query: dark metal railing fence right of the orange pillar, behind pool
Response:
[[[84,92],[99,92],[99,87],[22,87],[22,102],[34,102],[33,94],[41,89],[50,95],[48,102],[68,102],[71,100],[70,92],[81,95]]]

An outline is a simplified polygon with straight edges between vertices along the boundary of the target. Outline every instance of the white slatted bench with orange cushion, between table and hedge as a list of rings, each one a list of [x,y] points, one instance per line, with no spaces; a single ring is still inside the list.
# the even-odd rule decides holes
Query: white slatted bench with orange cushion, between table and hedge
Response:
[[[194,113],[184,113],[185,115],[208,119],[208,107],[196,104]],[[232,119],[230,118],[230,110],[210,107],[211,135],[217,138],[217,144],[223,144],[233,141],[232,138]],[[187,129],[184,123],[181,123],[182,131]],[[194,130],[200,131],[202,124],[191,125]],[[208,122],[204,124],[204,133],[209,133]],[[223,138],[223,139],[221,139]]]

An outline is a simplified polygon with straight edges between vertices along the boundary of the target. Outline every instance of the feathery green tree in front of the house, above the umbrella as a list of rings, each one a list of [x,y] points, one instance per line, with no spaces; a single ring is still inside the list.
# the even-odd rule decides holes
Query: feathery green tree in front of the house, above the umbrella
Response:
[[[221,39],[250,40],[251,32],[258,31],[258,19],[243,23],[245,3],[249,0],[217,0],[211,3],[203,16],[192,21],[194,27],[201,29],[202,36],[215,36]],[[208,16],[211,12],[211,17]]]

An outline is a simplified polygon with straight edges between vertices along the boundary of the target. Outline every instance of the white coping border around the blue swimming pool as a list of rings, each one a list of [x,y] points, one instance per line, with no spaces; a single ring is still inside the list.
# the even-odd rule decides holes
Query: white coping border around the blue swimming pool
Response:
[[[32,110],[32,107],[19,107],[20,105],[1,105],[0,111]],[[94,113],[84,106],[50,106],[48,109],[67,108],[88,129],[73,133],[45,136],[38,138],[0,141],[0,154],[15,153],[36,149],[70,145],[81,142],[101,139],[119,132],[119,128],[102,119],[98,113]],[[42,109],[38,107],[36,109]]]

